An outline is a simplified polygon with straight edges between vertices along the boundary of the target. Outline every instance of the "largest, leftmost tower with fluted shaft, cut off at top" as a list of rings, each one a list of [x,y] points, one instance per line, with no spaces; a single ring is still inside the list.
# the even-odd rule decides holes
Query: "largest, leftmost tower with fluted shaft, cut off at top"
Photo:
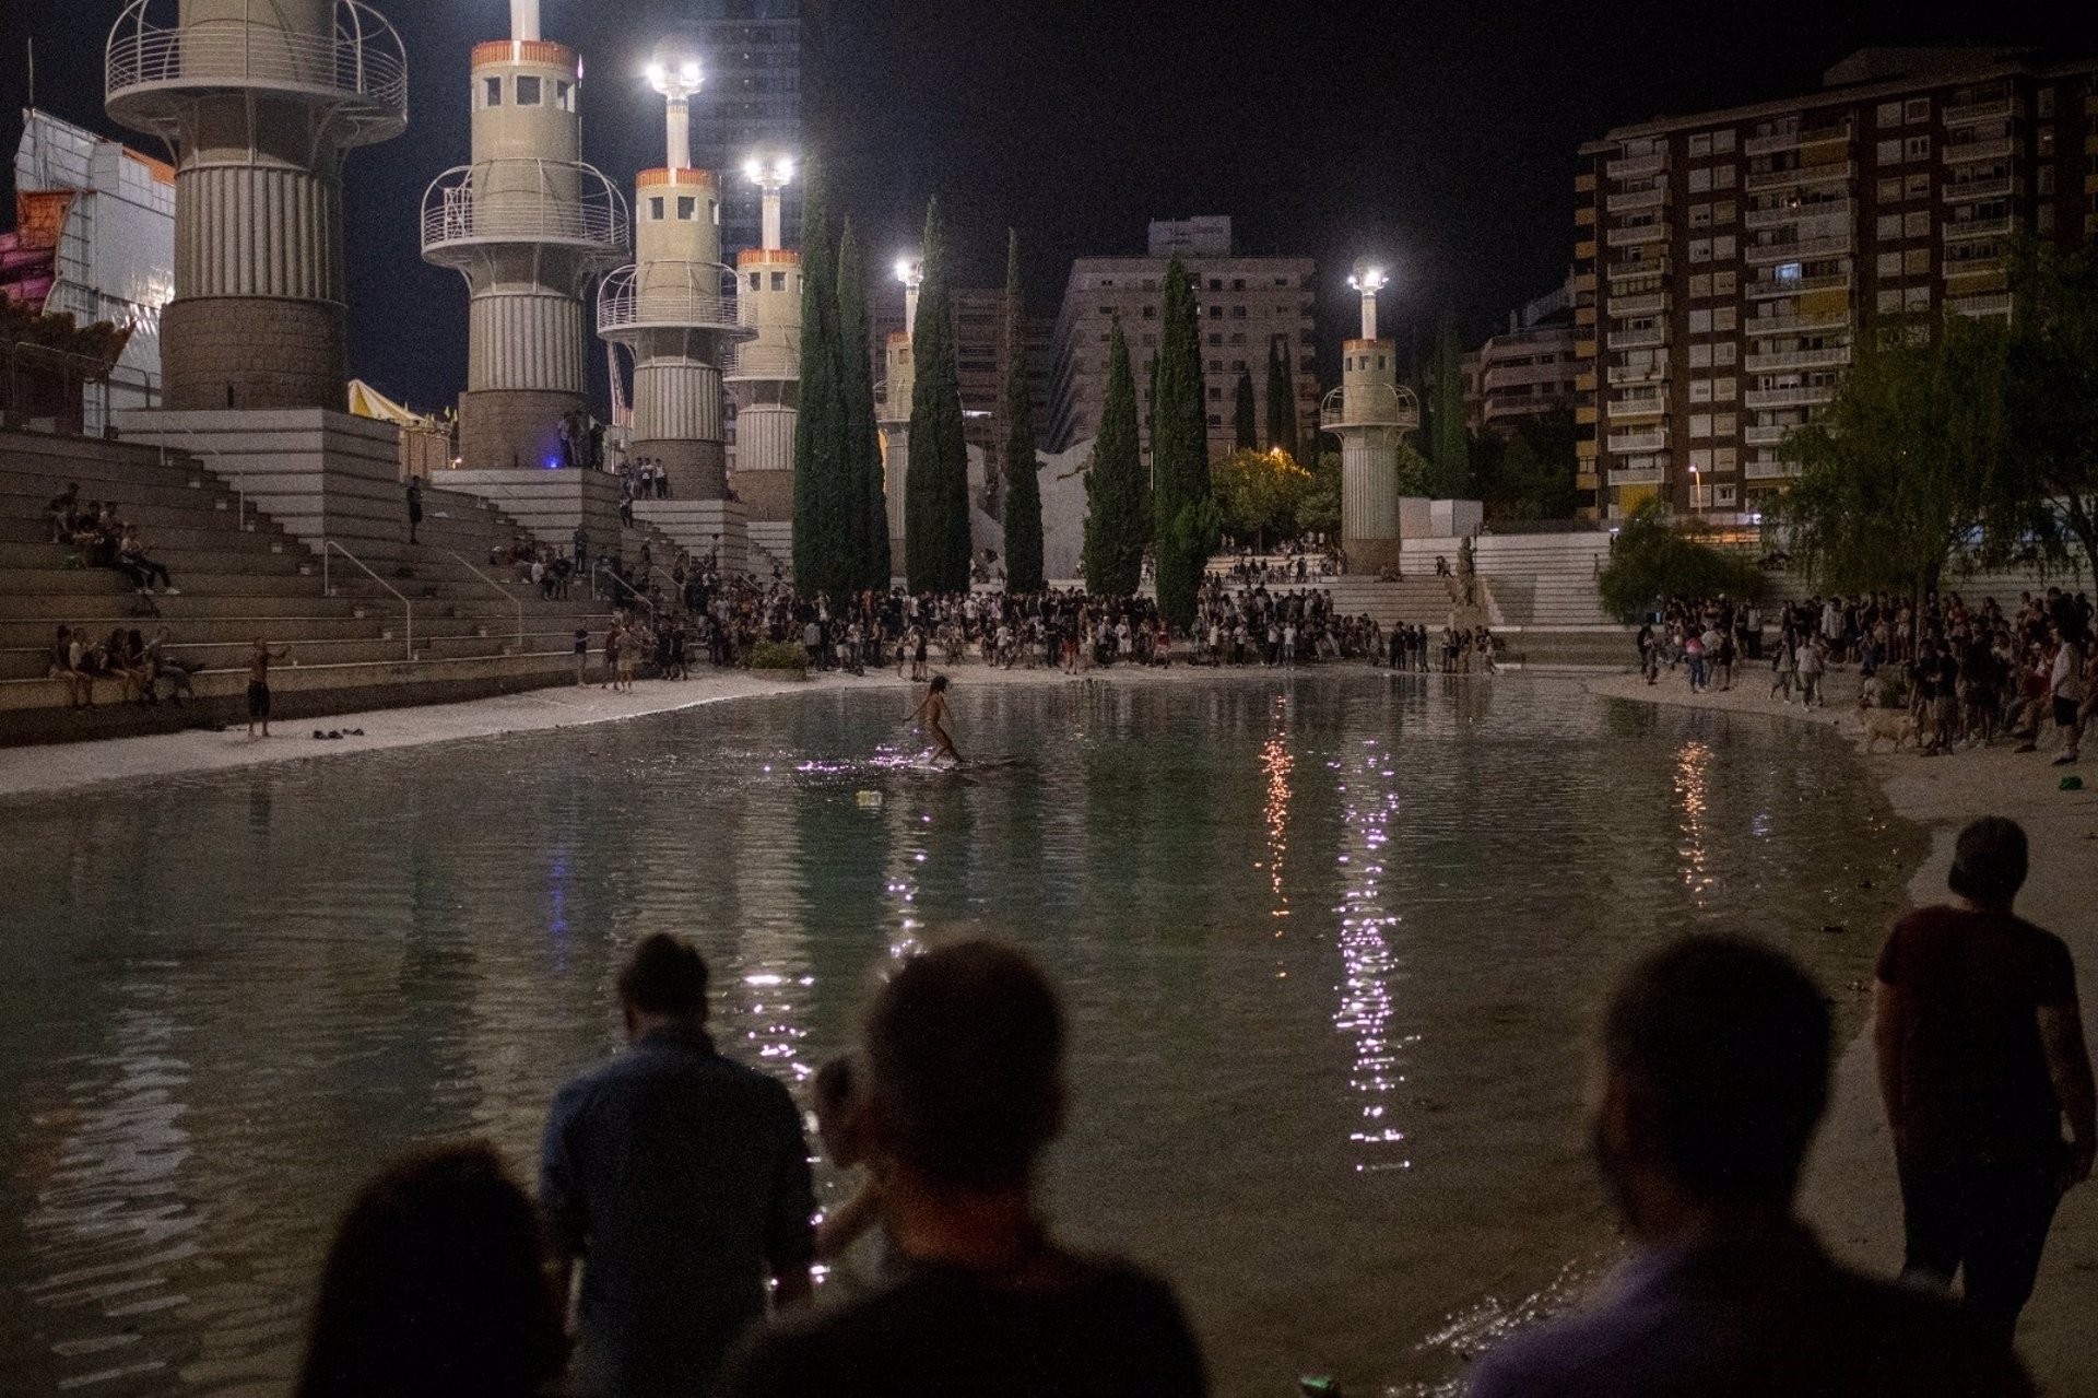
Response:
[[[342,407],[342,160],[407,128],[407,55],[357,0],[130,0],[109,115],[174,153],[170,409]]]

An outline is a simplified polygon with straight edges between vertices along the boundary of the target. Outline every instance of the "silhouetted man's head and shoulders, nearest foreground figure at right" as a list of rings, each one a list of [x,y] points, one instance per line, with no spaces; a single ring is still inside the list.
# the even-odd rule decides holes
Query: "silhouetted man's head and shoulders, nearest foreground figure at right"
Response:
[[[1590,1310],[1487,1354],[1475,1398],[2033,1392],[1957,1308],[1838,1268],[1792,1213],[1829,1079],[1827,1003],[1792,961],[1666,947],[1601,1047],[1594,1152],[1634,1253]]]

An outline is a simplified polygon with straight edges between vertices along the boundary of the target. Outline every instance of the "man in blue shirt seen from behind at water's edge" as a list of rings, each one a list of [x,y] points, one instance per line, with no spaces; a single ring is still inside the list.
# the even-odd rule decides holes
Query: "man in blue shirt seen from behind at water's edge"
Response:
[[[648,936],[619,974],[627,1050],[554,1100],[539,1194],[583,1264],[579,1392],[690,1398],[766,1310],[806,1299],[816,1251],[801,1117],[713,1052],[707,963]],[[566,1287],[562,1287],[566,1295]]]

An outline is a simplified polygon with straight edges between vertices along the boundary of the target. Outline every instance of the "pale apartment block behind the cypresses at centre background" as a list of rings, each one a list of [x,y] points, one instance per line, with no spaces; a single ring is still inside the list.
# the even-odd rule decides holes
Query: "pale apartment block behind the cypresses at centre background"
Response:
[[[1202,393],[1208,399],[1208,445],[1229,451],[1236,437],[1240,369],[1253,376],[1259,422],[1267,424],[1267,348],[1284,344],[1294,365],[1299,435],[1318,430],[1318,262],[1311,258],[1242,256],[1232,246],[1232,220],[1221,216],[1162,220],[1150,227],[1148,256],[1078,258],[1055,321],[1055,369],[1049,382],[1049,449],[1066,451],[1099,432],[1108,397],[1108,334],[1120,317],[1137,376],[1137,416],[1150,422],[1152,363],[1158,359],[1166,264],[1179,258],[1196,283],[1202,317]],[[1146,430],[1146,449],[1150,435]]]

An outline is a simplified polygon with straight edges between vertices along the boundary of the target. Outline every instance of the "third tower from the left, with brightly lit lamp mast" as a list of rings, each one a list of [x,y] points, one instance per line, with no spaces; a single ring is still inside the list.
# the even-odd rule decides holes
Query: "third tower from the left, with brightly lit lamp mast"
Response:
[[[657,46],[648,82],[669,113],[661,170],[634,181],[634,262],[598,290],[598,334],[634,355],[634,430],[627,453],[661,462],[671,497],[728,497],[722,437],[722,359],[745,338],[722,264],[722,195],[692,170],[692,94],[699,55]]]

